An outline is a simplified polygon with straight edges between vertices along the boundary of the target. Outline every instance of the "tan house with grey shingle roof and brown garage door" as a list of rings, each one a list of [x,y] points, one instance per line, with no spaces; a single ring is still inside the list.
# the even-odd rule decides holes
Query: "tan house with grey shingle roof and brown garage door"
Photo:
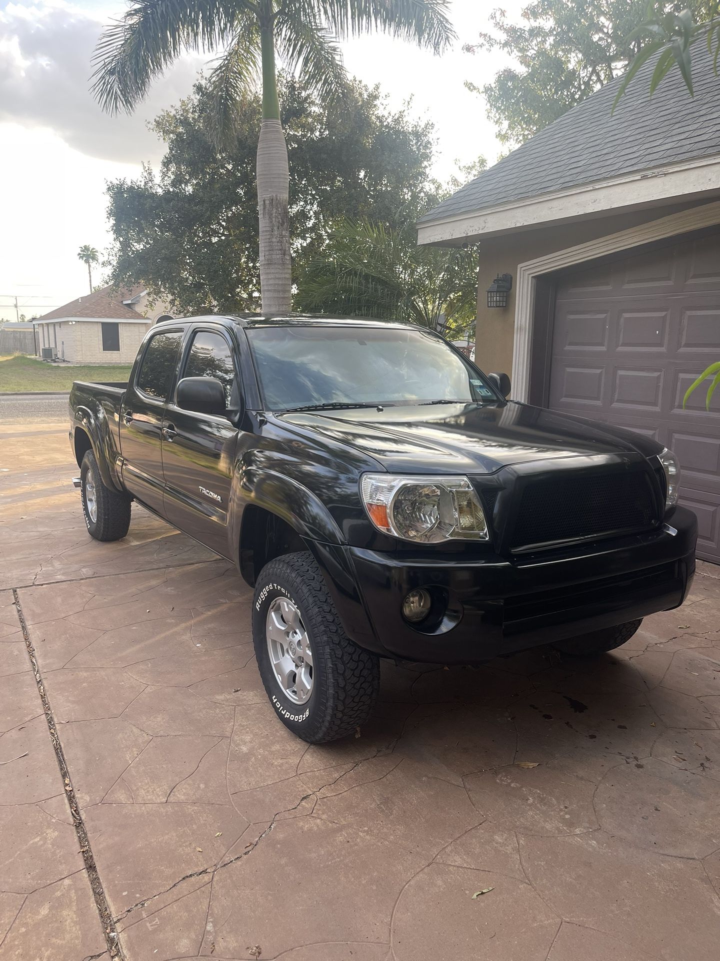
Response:
[[[657,438],[679,456],[698,554],[720,562],[720,79],[701,41],[695,95],[673,69],[619,81],[427,213],[421,244],[478,243],[476,357],[512,398]],[[504,297],[486,293],[509,274]],[[709,384],[709,382],[708,382]]]

